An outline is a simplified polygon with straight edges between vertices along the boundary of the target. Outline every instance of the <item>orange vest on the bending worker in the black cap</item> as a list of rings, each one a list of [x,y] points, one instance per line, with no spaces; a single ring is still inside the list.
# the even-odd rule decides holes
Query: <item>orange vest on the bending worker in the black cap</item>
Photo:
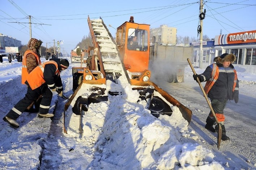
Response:
[[[60,70],[58,69],[58,64],[55,61],[44,62],[43,64],[37,66],[27,77],[27,82],[29,83],[29,86],[32,90],[40,87],[45,83],[43,72],[46,64],[54,64],[56,66],[55,75],[59,76]]]

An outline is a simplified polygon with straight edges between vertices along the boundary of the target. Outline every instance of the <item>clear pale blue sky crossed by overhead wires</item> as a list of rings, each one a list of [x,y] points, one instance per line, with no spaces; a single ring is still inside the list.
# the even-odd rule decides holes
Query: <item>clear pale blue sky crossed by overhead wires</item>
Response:
[[[1,0],[0,33],[12,36],[27,44],[31,15],[32,37],[42,40],[43,46],[53,46],[53,40],[63,40],[61,48],[71,49],[89,35],[87,18],[102,17],[104,23],[117,28],[130,16],[136,23],[150,24],[157,28],[162,24],[176,27],[177,35],[197,37],[200,0],[161,0],[158,4],[146,0]],[[157,2],[157,1],[154,1]],[[204,1],[206,17],[203,20],[203,35],[216,35],[256,30],[255,0],[207,0]],[[26,22],[26,23],[10,23]],[[49,24],[49,25],[46,25]],[[108,27],[115,36],[115,29]],[[222,30],[222,31],[221,31]],[[63,50],[61,49],[61,52]]]

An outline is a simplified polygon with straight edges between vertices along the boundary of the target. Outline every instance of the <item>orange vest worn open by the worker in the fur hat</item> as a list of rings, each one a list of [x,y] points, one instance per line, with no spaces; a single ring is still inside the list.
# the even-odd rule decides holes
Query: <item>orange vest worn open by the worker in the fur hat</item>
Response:
[[[234,85],[233,85],[232,91],[234,92],[235,86],[236,86],[237,74],[236,74],[236,70],[234,68],[233,68],[233,70],[235,73],[235,80],[234,80]],[[210,91],[210,89],[212,88],[212,86],[214,85],[216,80],[218,79],[218,77],[219,77],[219,67],[217,66],[216,63],[213,63],[212,77],[210,78],[210,80],[206,81],[206,84],[204,86],[204,91],[205,91],[206,95],[208,94],[208,92]]]

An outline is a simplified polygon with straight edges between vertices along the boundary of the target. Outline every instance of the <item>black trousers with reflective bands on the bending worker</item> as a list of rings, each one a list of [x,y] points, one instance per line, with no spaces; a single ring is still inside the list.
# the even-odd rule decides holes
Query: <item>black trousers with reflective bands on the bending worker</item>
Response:
[[[36,99],[42,95],[42,101],[40,103],[39,112],[41,114],[47,114],[51,105],[52,92],[46,84],[41,85],[39,88],[32,90],[30,86],[27,86],[27,93],[23,99],[21,99],[10,111],[7,113],[7,117],[16,120],[22,112]]]

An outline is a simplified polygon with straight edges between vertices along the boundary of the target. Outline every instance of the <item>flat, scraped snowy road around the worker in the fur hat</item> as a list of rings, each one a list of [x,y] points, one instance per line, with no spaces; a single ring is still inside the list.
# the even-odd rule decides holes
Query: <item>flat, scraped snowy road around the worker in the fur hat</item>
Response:
[[[256,84],[246,81],[239,82],[239,102],[228,102],[225,113],[225,127],[230,141],[222,141],[218,151],[217,133],[204,128],[210,108],[202,94],[199,84],[193,80],[192,71],[186,68],[184,83],[168,83],[158,81],[158,85],[166,90],[183,105],[192,110],[192,120],[189,128],[196,131],[200,137],[197,142],[211,149],[217,161],[229,166],[244,169],[255,168],[256,164]],[[239,79],[239,77],[238,77]],[[202,83],[204,86],[205,83]],[[230,161],[231,160],[231,161]]]

